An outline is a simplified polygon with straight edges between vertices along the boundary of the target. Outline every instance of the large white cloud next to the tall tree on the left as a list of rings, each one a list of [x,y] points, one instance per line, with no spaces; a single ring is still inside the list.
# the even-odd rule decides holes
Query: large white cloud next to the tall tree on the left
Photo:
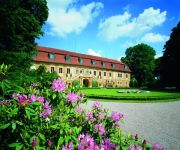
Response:
[[[49,0],[49,17],[47,22],[50,24],[51,32],[65,37],[70,33],[80,33],[89,23],[96,18],[103,4],[91,2],[76,8],[77,0]]]

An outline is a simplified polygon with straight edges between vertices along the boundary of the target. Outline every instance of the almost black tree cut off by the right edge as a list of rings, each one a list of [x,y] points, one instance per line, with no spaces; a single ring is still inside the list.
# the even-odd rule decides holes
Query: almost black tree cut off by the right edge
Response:
[[[164,45],[161,58],[160,79],[163,86],[180,88],[180,22],[172,29],[169,40]]]

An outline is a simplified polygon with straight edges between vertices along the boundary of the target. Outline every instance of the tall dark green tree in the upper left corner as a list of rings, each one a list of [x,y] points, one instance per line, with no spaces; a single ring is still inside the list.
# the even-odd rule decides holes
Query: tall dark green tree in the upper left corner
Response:
[[[28,67],[48,17],[46,0],[0,0],[0,63]]]

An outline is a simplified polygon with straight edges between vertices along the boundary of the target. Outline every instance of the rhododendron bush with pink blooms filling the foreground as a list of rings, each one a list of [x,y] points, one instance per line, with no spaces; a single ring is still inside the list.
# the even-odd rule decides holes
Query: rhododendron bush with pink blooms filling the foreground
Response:
[[[162,150],[132,135],[122,133],[122,113],[110,115],[99,102],[91,111],[81,107],[84,95],[65,89],[61,79],[50,87],[33,83],[24,93],[0,101],[1,149],[52,150]]]

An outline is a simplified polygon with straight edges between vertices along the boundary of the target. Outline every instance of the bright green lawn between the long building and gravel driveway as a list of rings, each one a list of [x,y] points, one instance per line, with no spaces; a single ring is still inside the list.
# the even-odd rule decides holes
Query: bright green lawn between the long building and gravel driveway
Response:
[[[122,89],[81,89],[89,98],[99,99],[125,99],[125,100],[161,100],[180,98],[180,92],[173,91],[150,91],[150,93],[118,93]],[[131,90],[131,89],[126,89]],[[132,89],[134,90],[134,89]]]

